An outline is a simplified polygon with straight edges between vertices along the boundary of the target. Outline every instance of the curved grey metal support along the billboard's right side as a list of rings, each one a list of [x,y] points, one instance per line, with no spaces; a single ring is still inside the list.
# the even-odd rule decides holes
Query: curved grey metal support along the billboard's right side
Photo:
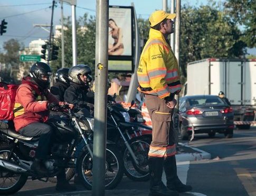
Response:
[[[134,3],[132,3],[131,6],[134,7]],[[136,72],[138,69],[139,58],[140,58],[140,36],[139,36],[139,28],[138,28],[138,23],[137,23],[135,7],[134,7],[134,22],[135,22],[135,58],[134,58],[134,64],[135,64],[134,72],[135,73],[133,73],[131,75],[131,82],[130,82],[130,86],[128,89],[126,102],[131,102],[132,100],[136,99],[137,87],[139,85],[138,76],[137,76]]]

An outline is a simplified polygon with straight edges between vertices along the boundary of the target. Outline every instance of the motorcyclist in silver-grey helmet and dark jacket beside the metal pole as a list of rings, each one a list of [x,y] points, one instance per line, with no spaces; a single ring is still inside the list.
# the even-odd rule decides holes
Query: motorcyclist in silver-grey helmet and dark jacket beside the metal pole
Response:
[[[89,83],[92,81],[91,68],[88,65],[79,64],[69,70],[70,86],[65,91],[64,101],[74,104],[76,109],[87,108],[93,111],[94,97],[89,97]]]

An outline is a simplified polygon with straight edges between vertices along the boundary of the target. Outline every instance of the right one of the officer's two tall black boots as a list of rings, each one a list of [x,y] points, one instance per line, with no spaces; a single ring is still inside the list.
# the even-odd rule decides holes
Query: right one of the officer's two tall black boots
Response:
[[[164,169],[167,181],[166,186],[168,189],[178,191],[179,193],[192,190],[190,185],[183,184],[181,180],[178,179],[175,155],[165,159]]]

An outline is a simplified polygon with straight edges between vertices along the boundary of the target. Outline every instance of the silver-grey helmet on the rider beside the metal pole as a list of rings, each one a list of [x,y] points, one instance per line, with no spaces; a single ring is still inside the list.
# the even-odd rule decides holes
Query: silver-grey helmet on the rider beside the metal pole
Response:
[[[88,65],[75,65],[69,69],[69,80],[80,85],[88,85],[92,81],[91,68]],[[87,81],[82,81],[80,75],[86,75]]]

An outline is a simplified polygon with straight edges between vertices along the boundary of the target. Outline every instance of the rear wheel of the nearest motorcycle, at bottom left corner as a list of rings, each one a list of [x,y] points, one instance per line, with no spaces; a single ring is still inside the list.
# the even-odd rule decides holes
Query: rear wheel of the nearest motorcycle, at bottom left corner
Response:
[[[0,145],[0,159],[6,160],[8,158],[8,154],[11,153],[10,145],[8,144],[3,144]],[[13,162],[18,162],[19,158],[16,154],[13,154],[13,158],[11,161]],[[5,176],[7,176],[5,178]],[[12,175],[15,175],[15,183],[13,183],[12,180]],[[9,187],[3,187],[4,184],[7,182],[12,183]],[[5,170],[4,168],[0,168],[0,195],[6,195],[6,194],[14,194],[18,192],[19,190],[22,189],[24,184],[27,181],[27,175],[26,174],[15,174],[11,171]]]

